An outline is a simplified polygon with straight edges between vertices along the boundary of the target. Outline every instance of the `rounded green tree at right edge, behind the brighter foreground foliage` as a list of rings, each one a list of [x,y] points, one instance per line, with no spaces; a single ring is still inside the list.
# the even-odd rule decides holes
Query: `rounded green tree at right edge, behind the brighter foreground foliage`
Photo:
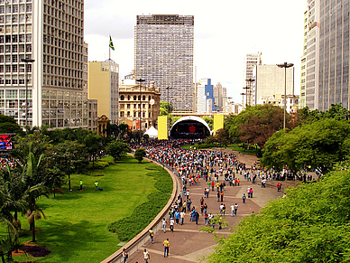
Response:
[[[294,173],[309,165],[327,171],[349,155],[349,132],[347,121],[334,118],[280,131],[266,142],[262,164],[276,170],[287,165]]]

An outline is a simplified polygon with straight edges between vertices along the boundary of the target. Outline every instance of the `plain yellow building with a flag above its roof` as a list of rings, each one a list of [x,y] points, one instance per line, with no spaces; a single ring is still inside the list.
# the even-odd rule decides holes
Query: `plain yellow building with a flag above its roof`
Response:
[[[118,123],[119,65],[115,61],[88,62],[88,99],[97,99],[97,116]]]

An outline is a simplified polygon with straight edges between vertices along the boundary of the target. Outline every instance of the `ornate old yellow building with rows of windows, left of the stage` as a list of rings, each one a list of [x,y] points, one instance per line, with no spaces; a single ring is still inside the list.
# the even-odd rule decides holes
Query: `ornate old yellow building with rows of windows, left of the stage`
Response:
[[[119,122],[128,124],[131,130],[139,130],[140,122],[143,131],[152,126],[157,128],[161,106],[160,89],[154,87],[154,82],[151,82],[151,87],[135,84],[134,80],[128,83],[130,84],[121,84],[119,87]]]

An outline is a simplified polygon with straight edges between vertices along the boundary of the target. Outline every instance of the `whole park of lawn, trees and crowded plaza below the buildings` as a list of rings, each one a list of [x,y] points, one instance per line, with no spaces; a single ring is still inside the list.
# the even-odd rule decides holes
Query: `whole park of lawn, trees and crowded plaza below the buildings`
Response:
[[[303,111],[297,123],[290,121],[283,130],[281,121],[271,122],[277,118],[271,108],[252,107],[227,117],[216,136],[195,147],[189,140],[186,148],[171,141],[166,147],[164,142],[156,146],[146,138],[127,145],[116,137],[101,138],[84,130],[32,130],[16,137],[13,159],[2,162],[2,260],[103,261],[147,230],[169,202],[170,211],[176,211],[186,199],[180,195],[184,181],[192,205],[200,211],[199,199],[210,177],[209,181],[226,182],[226,215],[219,212],[216,189],[210,191],[207,204],[215,226],[207,228],[205,215],[196,224],[186,214],[183,226],[175,225],[173,232],[168,227],[166,233],[158,231],[152,245],[146,240],[151,262],[163,260],[165,238],[170,240],[173,262],[203,257],[209,262],[227,258],[227,262],[345,262],[349,257],[348,117],[336,106],[325,113]],[[234,151],[233,142],[241,143],[239,149]],[[141,148],[147,157],[141,162],[127,155]],[[170,167],[180,188],[174,188],[173,175],[163,166]],[[189,186],[198,175],[198,184]],[[230,176],[241,184],[228,185]],[[267,187],[262,187],[265,179]],[[102,191],[97,191],[96,182]],[[275,188],[277,183],[283,184],[282,193]],[[243,204],[247,187],[253,188],[253,198]],[[170,200],[174,189],[176,198]],[[232,203],[239,205],[236,217],[230,216]],[[21,253],[31,246],[46,255],[32,258],[29,252]],[[136,251],[128,260],[140,261],[140,256]]]

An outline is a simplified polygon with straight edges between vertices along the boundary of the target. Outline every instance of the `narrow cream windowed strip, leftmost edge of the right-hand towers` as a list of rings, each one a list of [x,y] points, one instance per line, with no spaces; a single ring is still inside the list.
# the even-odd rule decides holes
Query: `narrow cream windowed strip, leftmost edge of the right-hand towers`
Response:
[[[309,12],[304,13],[304,38],[302,43],[301,70],[300,70],[300,108],[306,107],[305,88],[306,88],[306,67],[308,51],[308,33],[309,33]]]

